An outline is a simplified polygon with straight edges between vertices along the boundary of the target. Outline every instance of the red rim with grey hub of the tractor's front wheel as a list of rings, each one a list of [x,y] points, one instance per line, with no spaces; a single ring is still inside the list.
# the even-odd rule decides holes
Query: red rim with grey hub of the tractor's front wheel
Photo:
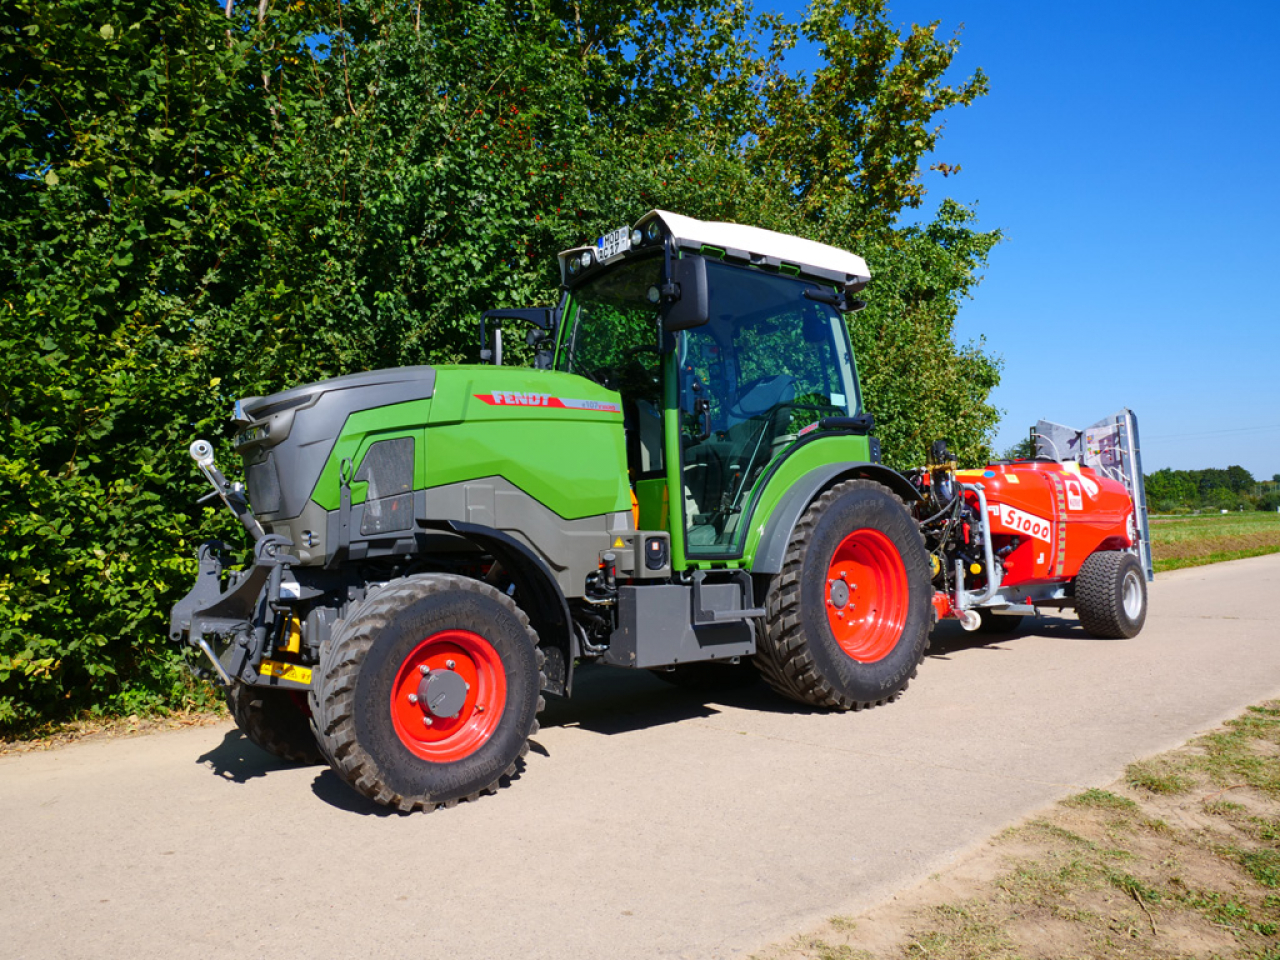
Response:
[[[488,742],[506,703],[507,671],[493,645],[467,630],[442,630],[401,664],[392,686],[392,723],[411,753],[449,763]],[[454,708],[456,714],[442,716]]]

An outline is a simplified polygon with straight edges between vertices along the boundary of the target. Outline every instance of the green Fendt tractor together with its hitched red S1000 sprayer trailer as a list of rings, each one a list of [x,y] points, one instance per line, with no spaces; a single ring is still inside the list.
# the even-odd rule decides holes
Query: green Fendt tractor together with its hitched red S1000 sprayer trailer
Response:
[[[850,710],[902,692],[940,618],[1140,630],[1128,412],[1091,434],[1115,476],[1052,449],[960,471],[945,442],[896,472],[844,316],[861,257],[659,210],[559,265],[557,307],[484,315],[486,362],[241,399],[243,484],[192,444],[252,563],[204,544],[170,631],[257,745],[434,809],[509,777],[584,663]],[[513,325],[532,367],[502,364]]]

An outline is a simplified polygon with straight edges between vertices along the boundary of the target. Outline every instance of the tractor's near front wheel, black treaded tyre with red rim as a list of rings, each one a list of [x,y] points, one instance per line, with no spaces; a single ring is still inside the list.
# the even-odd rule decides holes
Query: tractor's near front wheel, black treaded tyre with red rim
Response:
[[[320,652],[316,739],[347,783],[404,813],[493,792],[529,751],[543,708],[529,618],[452,575],[388,584]]]

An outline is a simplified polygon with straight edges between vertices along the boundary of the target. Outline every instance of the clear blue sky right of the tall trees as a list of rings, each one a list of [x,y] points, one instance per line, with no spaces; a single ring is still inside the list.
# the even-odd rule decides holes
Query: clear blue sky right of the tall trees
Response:
[[[922,212],[951,196],[1005,234],[956,328],[1004,356],[997,449],[1130,407],[1147,472],[1280,474],[1280,3],[891,10],[963,22],[952,78],[991,79],[946,115],[933,159],[963,170],[925,173]]]

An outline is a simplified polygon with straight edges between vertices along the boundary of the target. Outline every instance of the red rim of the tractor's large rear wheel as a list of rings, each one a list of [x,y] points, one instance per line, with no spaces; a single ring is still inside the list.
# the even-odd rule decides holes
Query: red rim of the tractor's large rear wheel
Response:
[[[859,663],[897,645],[910,607],[902,557],[879,530],[855,530],[831,557],[823,585],[827,622],[840,649]]]

